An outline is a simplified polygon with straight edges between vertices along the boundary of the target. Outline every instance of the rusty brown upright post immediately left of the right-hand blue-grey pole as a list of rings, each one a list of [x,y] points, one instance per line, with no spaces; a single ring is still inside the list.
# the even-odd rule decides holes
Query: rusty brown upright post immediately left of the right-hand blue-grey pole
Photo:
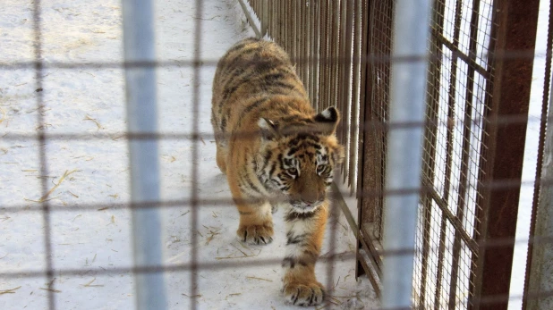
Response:
[[[385,142],[385,119],[379,115],[378,110],[385,110],[387,101],[383,93],[387,93],[389,87],[389,46],[391,45],[391,14],[394,10],[393,1],[369,0],[364,10],[363,20],[367,21],[362,38],[366,41],[365,51],[362,53],[365,58],[365,71],[362,72],[362,80],[365,87],[362,89],[361,102],[364,115],[361,141],[364,143],[361,150],[362,155],[362,180],[361,180],[361,204],[360,207],[360,229],[364,244],[368,247],[365,250],[377,262],[375,269],[381,270],[382,257],[378,248],[381,248],[381,221],[384,190],[384,149]],[[379,8],[382,6],[383,8]],[[384,17],[379,18],[380,11],[385,11]],[[382,14],[382,13],[381,13]]]

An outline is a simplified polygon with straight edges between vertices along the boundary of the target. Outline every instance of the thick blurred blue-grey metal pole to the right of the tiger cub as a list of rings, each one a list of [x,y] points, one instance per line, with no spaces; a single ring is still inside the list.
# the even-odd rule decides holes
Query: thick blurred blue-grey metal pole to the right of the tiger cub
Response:
[[[392,63],[391,97],[387,135],[386,190],[420,189],[421,127],[394,127],[402,123],[422,123],[425,108],[430,1],[396,1],[393,59],[424,56],[423,59]],[[409,88],[405,88],[409,85]],[[382,306],[410,307],[413,290],[413,253],[419,193],[387,197],[384,219],[384,258]]]

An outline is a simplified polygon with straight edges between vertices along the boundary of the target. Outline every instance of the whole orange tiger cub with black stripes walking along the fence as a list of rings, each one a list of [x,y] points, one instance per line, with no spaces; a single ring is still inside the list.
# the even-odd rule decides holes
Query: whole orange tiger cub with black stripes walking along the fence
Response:
[[[219,60],[211,123],[217,165],[249,244],[273,240],[271,209],[285,207],[284,294],[294,305],[322,303],[315,277],[328,216],[327,189],[344,157],[336,108],[315,113],[288,55],[276,43],[247,38]]]

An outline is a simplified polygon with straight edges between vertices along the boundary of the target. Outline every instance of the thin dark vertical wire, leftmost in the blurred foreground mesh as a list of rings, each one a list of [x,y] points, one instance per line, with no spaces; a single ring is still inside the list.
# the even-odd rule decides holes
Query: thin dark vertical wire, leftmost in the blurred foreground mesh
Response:
[[[44,126],[44,93],[42,92],[43,87],[43,63],[42,63],[42,28],[40,26],[41,20],[41,1],[36,0],[33,3],[33,36],[34,36],[34,58],[35,58],[35,88],[37,94],[37,123],[38,123],[38,157],[40,161],[40,174],[48,175],[48,162],[47,162],[47,138],[44,135],[46,127]],[[48,192],[48,180],[47,178],[41,178],[40,180],[40,190],[41,197],[45,197]],[[42,203],[42,222],[44,225],[44,249],[45,249],[45,265],[46,265],[46,279],[47,283],[54,282],[54,271],[53,271],[53,262],[52,262],[52,231],[50,225],[50,204],[48,199],[45,199]],[[47,292],[47,303],[48,309],[55,309],[55,296],[53,290],[48,290]]]

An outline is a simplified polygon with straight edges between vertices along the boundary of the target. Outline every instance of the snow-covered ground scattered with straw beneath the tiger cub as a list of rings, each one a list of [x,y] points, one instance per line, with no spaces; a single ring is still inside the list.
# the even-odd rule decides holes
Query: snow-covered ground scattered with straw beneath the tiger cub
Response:
[[[206,0],[202,16],[193,1],[155,2],[157,57],[160,61],[191,60],[194,23],[202,22],[201,58],[216,61],[226,48],[252,32],[237,13],[235,1]],[[123,60],[121,4],[118,0],[45,0],[41,13],[42,55],[46,63],[118,63]],[[0,11],[0,63],[33,60],[32,2],[4,0]],[[200,71],[200,131],[210,134],[211,80],[215,68]],[[0,279],[0,309],[47,308],[48,290],[58,309],[131,309],[135,306],[133,277],[128,272],[105,273],[132,266],[130,212],[114,208],[129,201],[129,164],[124,110],[123,70],[50,68],[44,71],[44,130],[51,134],[111,134],[111,138],[48,140],[47,173],[40,171],[40,146],[14,134],[38,130],[37,86],[32,68],[0,70],[0,271],[40,272],[46,267],[43,214],[36,212],[43,196],[56,211],[50,231],[55,280],[45,277]],[[162,133],[190,133],[192,69],[157,69],[158,123]],[[191,179],[188,140],[159,141],[163,200],[185,200],[191,184],[203,199],[229,199],[225,178],[215,163],[212,138],[196,144],[197,180]],[[93,204],[94,208],[86,207]],[[97,206],[97,207],[96,207]],[[17,207],[17,212],[13,212]],[[6,209],[7,208],[7,209]],[[276,214],[276,239],[265,247],[246,247],[234,238],[238,214],[228,203],[201,205],[198,230],[191,231],[191,209],[176,205],[163,210],[164,262],[190,262],[191,234],[197,234],[200,263],[239,263],[224,269],[200,270],[196,302],[200,309],[285,309],[280,293],[280,264],[247,266],[284,256],[284,223]],[[331,221],[336,221],[332,219]],[[374,308],[369,281],[354,279],[353,245],[345,220],[336,230],[334,298],[329,308]],[[331,225],[328,225],[330,227]],[[328,253],[328,239],[323,256]],[[348,255],[349,254],[349,255]],[[64,270],[81,272],[64,273]],[[327,282],[328,264],[318,264],[319,281]],[[97,272],[104,272],[97,274]],[[191,272],[166,272],[168,305],[191,306]],[[290,307],[292,308],[292,307]]]

